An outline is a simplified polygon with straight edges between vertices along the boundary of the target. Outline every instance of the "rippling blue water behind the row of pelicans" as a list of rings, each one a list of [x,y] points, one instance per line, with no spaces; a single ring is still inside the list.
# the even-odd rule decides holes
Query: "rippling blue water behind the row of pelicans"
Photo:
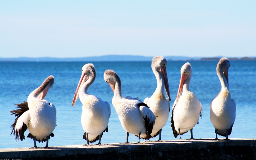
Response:
[[[10,111],[15,103],[27,101],[31,91],[42,84],[49,75],[54,75],[54,86],[48,91],[45,99],[53,103],[57,109],[57,126],[49,146],[85,144],[82,138],[84,130],[81,125],[82,104],[77,100],[71,106],[75,89],[81,76],[81,69],[87,62],[0,62],[0,148],[32,147],[33,140],[26,138],[15,141],[10,136],[14,116]],[[180,69],[184,61],[169,61],[167,66],[171,106],[177,95],[180,82]],[[191,61],[193,76],[190,90],[193,91],[203,106],[202,119],[193,129],[194,138],[215,137],[214,127],[210,121],[210,101],[221,89],[216,75],[217,61]],[[125,142],[126,132],[122,128],[116,111],[112,105],[113,91],[104,82],[103,73],[106,69],[117,72],[122,81],[123,96],[139,97],[142,101],[150,97],[156,88],[156,78],[151,70],[151,62],[94,62],[96,80],[89,88],[94,94],[111,105],[109,132],[104,133],[101,143]],[[229,88],[232,98],[236,101],[236,121],[230,138],[256,137],[256,62],[231,61],[229,69]],[[174,140],[170,123],[171,113],[166,126],[162,130],[162,140]],[[25,132],[25,137],[29,131]],[[221,137],[221,136],[219,136]],[[182,135],[190,138],[190,133]],[[157,140],[158,137],[152,139]],[[129,141],[137,142],[137,137],[130,134]],[[142,140],[143,141],[143,140]],[[96,142],[97,144],[98,142]],[[45,146],[45,143],[37,143]]]

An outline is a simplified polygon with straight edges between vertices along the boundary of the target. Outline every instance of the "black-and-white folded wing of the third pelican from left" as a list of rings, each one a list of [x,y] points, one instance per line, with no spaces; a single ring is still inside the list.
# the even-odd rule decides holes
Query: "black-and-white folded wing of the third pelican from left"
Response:
[[[155,125],[156,117],[144,102],[137,104],[137,106],[140,108],[140,114],[145,120],[146,131],[151,134],[153,126]]]

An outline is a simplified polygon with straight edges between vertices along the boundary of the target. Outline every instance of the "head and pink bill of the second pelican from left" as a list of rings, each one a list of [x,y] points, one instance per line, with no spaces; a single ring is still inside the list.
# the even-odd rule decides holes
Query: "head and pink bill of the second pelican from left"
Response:
[[[87,63],[82,68],[82,75],[75,91],[75,95],[72,101],[72,106],[75,104],[75,102],[79,98],[79,92],[80,92],[81,86],[89,79],[89,77],[92,77],[90,83],[93,83],[96,77],[96,71],[92,63]]]

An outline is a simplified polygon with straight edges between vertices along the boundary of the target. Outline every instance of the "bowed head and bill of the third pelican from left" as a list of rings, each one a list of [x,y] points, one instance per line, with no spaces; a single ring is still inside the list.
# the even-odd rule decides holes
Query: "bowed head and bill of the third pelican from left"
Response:
[[[106,70],[104,72],[104,80],[110,85],[114,93],[116,82],[121,83],[119,76],[113,70]]]

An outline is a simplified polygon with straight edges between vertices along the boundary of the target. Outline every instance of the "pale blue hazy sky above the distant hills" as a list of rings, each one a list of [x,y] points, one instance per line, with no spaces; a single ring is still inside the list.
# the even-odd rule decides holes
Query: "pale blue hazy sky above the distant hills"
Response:
[[[256,56],[256,0],[0,1],[0,57]]]

